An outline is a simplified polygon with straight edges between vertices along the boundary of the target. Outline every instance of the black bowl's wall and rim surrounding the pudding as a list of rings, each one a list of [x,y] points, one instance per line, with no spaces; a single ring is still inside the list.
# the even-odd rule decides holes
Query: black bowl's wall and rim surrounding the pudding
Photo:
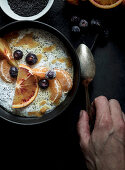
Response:
[[[0,29],[0,37],[3,35],[15,31],[18,29],[24,29],[24,28],[37,28],[37,29],[42,29],[45,31],[50,32],[51,34],[55,35],[66,47],[68,50],[68,53],[71,56],[73,66],[74,66],[74,79],[73,79],[73,87],[71,91],[68,93],[66,99],[59,105],[57,106],[53,111],[51,111],[48,114],[44,114],[42,117],[21,117],[17,115],[13,115],[12,113],[7,112],[5,109],[0,107],[0,117],[6,119],[7,121],[17,123],[17,124],[23,124],[23,125],[32,125],[32,124],[39,124],[46,122],[48,120],[53,119],[54,117],[60,115],[72,102],[74,99],[79,82],[80,82],[80,65],[79,65],[79,59],[70,44],[70,42],[66,39],[66,37],[60,33],[58,30],[55,28],[41,22],[37,21],[16,21],[13,23],[10,23],[3,28]]]

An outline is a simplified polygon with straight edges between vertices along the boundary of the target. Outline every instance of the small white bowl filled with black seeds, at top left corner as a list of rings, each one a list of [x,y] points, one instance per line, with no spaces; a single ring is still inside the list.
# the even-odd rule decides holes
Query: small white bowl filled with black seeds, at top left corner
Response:
[[[54,0],[0,0],[1,9],[15,20],[36,20],[45,15]]]

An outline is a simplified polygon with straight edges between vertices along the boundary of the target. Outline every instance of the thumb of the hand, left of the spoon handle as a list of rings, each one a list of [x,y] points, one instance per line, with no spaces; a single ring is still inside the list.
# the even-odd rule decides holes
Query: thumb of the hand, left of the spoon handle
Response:
[[[80,136],[80,145],[83,149],[87,149],[90,139],[89,117],[86,111],[81,110],[80,118],[77,126]]]

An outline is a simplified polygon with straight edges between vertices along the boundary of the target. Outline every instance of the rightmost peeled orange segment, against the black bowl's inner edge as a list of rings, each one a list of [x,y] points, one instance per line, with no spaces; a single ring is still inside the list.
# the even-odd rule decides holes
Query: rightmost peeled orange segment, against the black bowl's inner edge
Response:
[[[56,79],[60,82],[62,90],[67,93],[72,88],[72,78],[65,70],[54,69],[56,71]]]

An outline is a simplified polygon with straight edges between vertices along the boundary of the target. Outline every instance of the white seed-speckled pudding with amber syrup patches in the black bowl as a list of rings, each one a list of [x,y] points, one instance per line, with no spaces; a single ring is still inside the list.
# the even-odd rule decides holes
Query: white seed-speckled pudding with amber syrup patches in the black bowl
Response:
[[[16,50],[23,52],[22,59],[17,60],[18,65],[24,64],[26,66],[26,56],[29,53],[33,53],[36,54],[38,62],[31,65],[30,68],[46,67],[50,70],[64,70],[70,74],[71,79],[73,80],[74,68],[70,54],[64,44],[53,34],[44,30],[27,28],[11,32],[8,35],[5,35],[4,39],[8,42],[12,54]],[[49,114],[49,112],[54,110],[61,102],[63,102],[68,95],[68,92],[62,91],[62,96],[58,103],[55,104],[50,99],[51,92],[49,88],[39,88],[36,98],[28,106],[12,108],[15,87],[16,81],[7,83],[0,75],[0,107],[2,106],[2,108],[8,112],[24,117],[39,117],[44,113]],[[58,89],[58,86],[56,88]],[[38,114],[39,111],[40,114]]]

